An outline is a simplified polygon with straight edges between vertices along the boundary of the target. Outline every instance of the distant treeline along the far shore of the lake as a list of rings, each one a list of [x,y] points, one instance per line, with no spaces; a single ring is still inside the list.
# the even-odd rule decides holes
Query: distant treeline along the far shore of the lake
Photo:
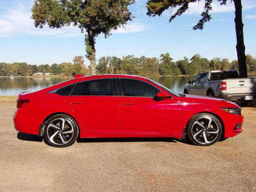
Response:
[[[256,72],[256,58],[246,55],[247,70],[250,73]],[[194,75],[201,70],[237,70],[238,61],[229,62],[227,58],[213,58],[208,60],[200,54],[195,54],[191,59],[184,57],[183,60],[173,62],[169,53],[161,54],[160,58],[140,58],[133,55],[123,56],[122,59],[116,56],[101,57],[96,66],[98,74],[132,74],[140,76],[158,75]],[[54,75],[72,76],[76,74],[90,75],[90,66],[84,65],[82,56],[76,56],[73,62],[62,64],[28,65],[26,63],[0,63],[0,75],[2,76],[27,76],[37,72],[51,73]]]

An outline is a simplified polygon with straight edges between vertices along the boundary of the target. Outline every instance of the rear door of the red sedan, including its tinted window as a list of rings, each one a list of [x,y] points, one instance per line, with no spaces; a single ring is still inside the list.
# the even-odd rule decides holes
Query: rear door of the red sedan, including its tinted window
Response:
[[[80,82],[67,100],[85,131],[119,133],[120,103],[116,79]]]

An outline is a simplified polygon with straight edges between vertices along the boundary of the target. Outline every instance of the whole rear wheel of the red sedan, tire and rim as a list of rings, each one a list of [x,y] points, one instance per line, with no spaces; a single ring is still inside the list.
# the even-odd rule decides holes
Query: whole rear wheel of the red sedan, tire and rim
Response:
[[[51,117],[44,128],[46,143],[54,147],[68,147],[78,137],[78,125],[70,116],[59,114]]]

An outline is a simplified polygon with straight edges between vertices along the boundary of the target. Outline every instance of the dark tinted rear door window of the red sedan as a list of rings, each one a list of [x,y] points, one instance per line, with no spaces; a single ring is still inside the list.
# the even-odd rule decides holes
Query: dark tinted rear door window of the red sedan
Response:
[[[71,95],[114,96],[113,79],[84,81],[78,84]]]

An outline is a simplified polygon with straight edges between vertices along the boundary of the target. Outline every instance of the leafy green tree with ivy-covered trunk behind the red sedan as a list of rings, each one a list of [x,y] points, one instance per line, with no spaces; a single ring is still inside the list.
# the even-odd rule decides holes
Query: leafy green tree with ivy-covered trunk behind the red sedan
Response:
[[[90,60],[91,74],[96,74],[95,38],[103,33],[105,38],[111,30],[124,26],[132,20],[127,6],[134,0],[35,0],[32,19],[36,27],[46,23],[51,28],[78,26],[85,35],[86,57]]]

